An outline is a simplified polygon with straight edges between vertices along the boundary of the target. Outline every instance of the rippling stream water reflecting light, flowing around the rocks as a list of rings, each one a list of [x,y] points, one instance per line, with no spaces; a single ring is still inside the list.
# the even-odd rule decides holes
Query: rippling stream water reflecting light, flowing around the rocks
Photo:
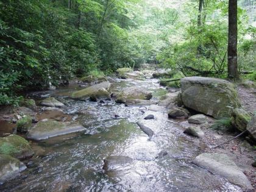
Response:
[[[115,91],[129,86],[144,87],[155,96],[165,93],[155,79],[114,80]],[[70,121],[79,121],[87,130],[34,143],[43,155],[29,160],[21,177],[1,185],[0,191],[241,191],[191,163],[205,144],[183,134],[180,122],[168,119],[166,111],[126,107],[113,101],[73,101],[66,96],[75,88],[33,95],[65,99],[68,105],[64,112]],[[155,119],[144,120],[149,114]],[[113,118],[115,115],[120,118]],[[155,133],[152,140],[137,121],[151,127]],[[168,155],[155,158],[161,151]],[[131,157],[133,162],[104,172],[103,159],[110,155]]]

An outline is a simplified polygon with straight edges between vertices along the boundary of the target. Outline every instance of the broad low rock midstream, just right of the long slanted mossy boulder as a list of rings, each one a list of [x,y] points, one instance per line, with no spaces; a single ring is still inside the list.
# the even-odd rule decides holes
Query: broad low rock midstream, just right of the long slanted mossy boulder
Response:
[[[118,94],[116,102],[124,103],[133,99],[150,100],[151,98],[151,91],[147,91],[143,87],[128,87]]]

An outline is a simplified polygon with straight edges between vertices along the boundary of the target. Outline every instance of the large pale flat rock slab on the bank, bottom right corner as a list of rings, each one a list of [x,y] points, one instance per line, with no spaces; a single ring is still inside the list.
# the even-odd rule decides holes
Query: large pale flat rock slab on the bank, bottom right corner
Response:
[[[230,160],[225,154],[208,154],[204,153],[198,155],[194,161],[194,164],[207,169],[213,174],[218,174],[224,177],[230,183],[240,186],[244,189],[253,189],[251,182],[247,179],[244,173]]]

